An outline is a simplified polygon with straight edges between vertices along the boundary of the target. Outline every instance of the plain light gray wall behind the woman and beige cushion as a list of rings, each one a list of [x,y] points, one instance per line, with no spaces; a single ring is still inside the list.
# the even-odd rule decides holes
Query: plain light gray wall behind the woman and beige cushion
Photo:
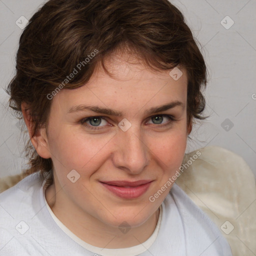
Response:
[[[8,109],[8,95],[2,89],[15,73],[22,32],[15,21],[20,16],[29,19],[43,2],[0,0],[0,177],[19,173],[24,166],[20,124]],[[183,12],[200,42],[209,71],[204,94],[205,114],[210,117],[193,127],[193,141],[188,142],[186,152],[222,146],[241,155],[256,175],[256,0],[171,2]],[[221,20],[226,26],[231,24],[224,18],[227,15],[234,21],[229,29],[221,24]],[[229,123],[223,123],[226,118]]]

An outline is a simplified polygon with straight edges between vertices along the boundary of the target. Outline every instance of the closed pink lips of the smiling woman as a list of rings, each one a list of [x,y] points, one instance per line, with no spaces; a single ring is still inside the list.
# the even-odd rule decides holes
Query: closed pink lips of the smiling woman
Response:
[[[100,183],[115,195],[125,198],[133,199],[141,196],[149,188],[152,180],[111,180],[100,181]]]

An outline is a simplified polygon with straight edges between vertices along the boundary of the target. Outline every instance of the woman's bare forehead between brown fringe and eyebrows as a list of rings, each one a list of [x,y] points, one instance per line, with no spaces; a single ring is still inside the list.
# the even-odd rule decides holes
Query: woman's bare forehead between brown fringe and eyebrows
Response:
[[[75,89],[62,89],[52,104],[58,101],[62,109],[73,104],[98,104],[101,106],[140,107],[145,104],[159,104],[171,100],[186,101],[186,70],[179,67],[177,79],[169,74],[170,70],[152,70],[134,55],[112,54],[104,61],[107,74],[101,65],[97,65],[89,81]],[[175,76],[174,76],[175,78]]]

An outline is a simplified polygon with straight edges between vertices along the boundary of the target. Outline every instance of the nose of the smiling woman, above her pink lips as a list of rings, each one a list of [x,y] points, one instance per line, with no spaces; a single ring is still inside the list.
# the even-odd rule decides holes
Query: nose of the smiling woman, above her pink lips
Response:
[[[140,133],[130,128],[125,132],[119,130],[115,137],[113,163],[131,174],[140,173],[149,162],[149,148]]]

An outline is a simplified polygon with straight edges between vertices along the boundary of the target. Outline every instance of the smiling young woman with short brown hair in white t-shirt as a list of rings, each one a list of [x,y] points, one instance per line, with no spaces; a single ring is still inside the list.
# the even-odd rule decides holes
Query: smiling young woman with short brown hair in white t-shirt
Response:
[[[0,194],[1,255],[231,255],[171,179],[206,84],[176,7],[50,0],[16,61],[10,106],[34,149],[30,175]]]

